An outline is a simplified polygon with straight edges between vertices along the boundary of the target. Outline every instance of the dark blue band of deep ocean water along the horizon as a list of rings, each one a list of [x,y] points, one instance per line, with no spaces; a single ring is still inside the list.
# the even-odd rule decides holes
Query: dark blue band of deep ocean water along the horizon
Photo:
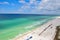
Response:
[[[14,18],[25,18],[25,17],[36,17],[36,16],[52,16],[52,15],[42,15],[42,14],[0,14],[0,20],[10,20],[10,19],[14,19]]]

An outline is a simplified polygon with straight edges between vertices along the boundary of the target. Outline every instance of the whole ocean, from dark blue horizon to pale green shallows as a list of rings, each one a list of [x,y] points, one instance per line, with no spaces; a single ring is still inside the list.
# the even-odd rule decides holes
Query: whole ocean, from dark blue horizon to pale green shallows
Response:
[[[10,40],[18,34],[36,29],[38,25],[51,20],[52,17],[32,14],[0,14],[0,40]],[[32,26],[34,24],[37,25]]]

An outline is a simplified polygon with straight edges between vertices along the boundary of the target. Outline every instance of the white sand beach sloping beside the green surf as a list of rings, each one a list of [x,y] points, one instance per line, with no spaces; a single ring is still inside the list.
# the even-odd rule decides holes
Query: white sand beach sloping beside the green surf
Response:
[[[39,28],[29,31],[22,36],[17,35],[13,40],[54,40],[56,27],[60,25],[60,17],[48,21]]]

